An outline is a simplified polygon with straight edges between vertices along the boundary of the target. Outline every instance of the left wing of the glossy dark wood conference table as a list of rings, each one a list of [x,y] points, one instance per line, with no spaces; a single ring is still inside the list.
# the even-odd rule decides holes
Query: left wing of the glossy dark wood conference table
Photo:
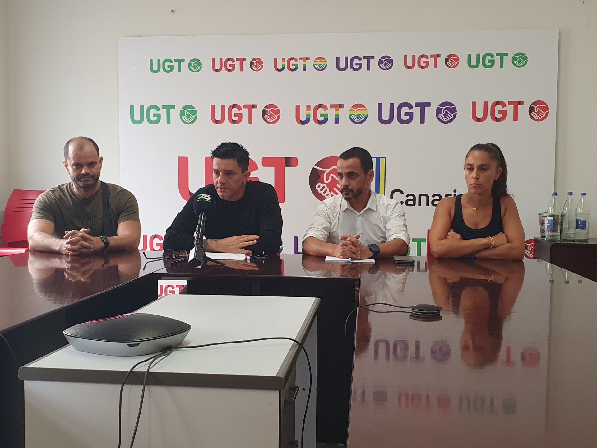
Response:
[[[42,252],[0,257],[0,446],[24,444],[17,369],[66,344],[62,330],[134,311],[157,298],[139,252],[69,257]]]

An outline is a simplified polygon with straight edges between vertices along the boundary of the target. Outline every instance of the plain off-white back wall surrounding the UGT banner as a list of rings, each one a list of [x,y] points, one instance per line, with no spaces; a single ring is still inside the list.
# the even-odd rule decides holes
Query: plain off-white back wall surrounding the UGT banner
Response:
[[[104,155],[103,179],[118,182],[118,36],[558,28],[555,186],[561,194],[572,189],[577,197],[586,191],[597,210],[597,109],[591,106],[597,98],[595,0],[8,4],[11,188],[44,189],[66,182],[61,148],[79,134],[97,140]],[[472,143],[463,139],[463,154]],[[541,175],[534,167],[527,173],[529,182]],[[547,207],[549,195],[546,191],[537,198],[537,211]],[[597,225],[592,228],[595,237]]]

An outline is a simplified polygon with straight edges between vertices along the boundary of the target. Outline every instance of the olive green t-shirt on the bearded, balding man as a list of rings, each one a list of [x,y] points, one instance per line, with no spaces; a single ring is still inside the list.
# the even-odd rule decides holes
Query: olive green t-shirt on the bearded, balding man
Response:
[[[113,228],[119,223],[139,220],[139,205],[133,194],[113,183],[106,183],[109,191],[110,217]],[[64,232],[91,229],[92,237],[113,237],[104,233],[101,188],[93,196],[82,198],[73,191],[72,183],[64,183],[43,192],[33,205],[31,219],[47,219],[54,223],[54,237]]]

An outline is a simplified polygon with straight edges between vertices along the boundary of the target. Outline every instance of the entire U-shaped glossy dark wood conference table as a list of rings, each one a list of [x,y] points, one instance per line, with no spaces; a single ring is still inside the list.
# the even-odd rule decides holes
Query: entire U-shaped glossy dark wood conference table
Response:
[[[391,260],[336,265],[290,254],[254,265],[205,266],[201,273],[169,264],[147,262],[140,253],[73,262],[40,253],[0,257],[0,332],[17,364],[27,363],[61,346],[61,331],[70,325],[150,302],[158,278],[186,278],[206,291],[215,285],[248,294],[323,295],[327,318],[342,323],[328,345],[341,360],[328,368],[338,378],[348,375],[350,420],[340,402],[327,414],[344,419],[336,435],[346,437],[349,422],[350,447],[595,445],[597,284],[558,266],[417,258],[404,269]],[[345,340],[358,284],[361,304],[436,303],[444,307],[442,319],[417,321],[387,306],[360,309]],[[0,446],[22,446],[21,383],[1,340],[0,361]]]

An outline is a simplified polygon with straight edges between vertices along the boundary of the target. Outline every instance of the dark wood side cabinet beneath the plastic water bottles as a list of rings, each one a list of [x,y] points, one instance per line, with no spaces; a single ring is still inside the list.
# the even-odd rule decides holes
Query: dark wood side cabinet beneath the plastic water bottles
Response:
[[[587,243],[552,243],[534,239],[534,257],[597,281],[597,238]]]

